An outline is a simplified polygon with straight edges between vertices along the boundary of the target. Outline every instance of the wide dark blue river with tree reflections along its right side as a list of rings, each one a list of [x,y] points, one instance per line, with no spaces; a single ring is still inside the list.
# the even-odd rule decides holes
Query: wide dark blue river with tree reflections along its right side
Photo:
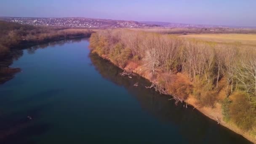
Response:
[[[0,85],[1,144],[249,144],[148,80],[88,49],[88,39],[19,51],[21,68]],[[134,83],[139,83],[134,87]]]

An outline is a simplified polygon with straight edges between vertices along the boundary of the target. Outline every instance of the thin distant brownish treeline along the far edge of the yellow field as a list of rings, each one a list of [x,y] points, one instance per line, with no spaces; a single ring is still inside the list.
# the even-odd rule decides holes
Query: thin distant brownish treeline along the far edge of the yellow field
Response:
[[[247,34],[247,33],[256,33],[256,29],[249,29],[249,28],[197,28],[197,27],[184,27],[184,28],[144,28],[144,29],[137,29],[145,32],[157,32],[161,34],[227,34],[227,33],[239,33],[239,34]]]

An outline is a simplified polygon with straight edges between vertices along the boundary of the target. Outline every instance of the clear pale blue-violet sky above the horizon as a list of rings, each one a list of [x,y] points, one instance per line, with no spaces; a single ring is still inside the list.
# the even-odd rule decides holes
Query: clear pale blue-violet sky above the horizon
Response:
[[[256,26],[256,0],[0,0],[0,16]]]

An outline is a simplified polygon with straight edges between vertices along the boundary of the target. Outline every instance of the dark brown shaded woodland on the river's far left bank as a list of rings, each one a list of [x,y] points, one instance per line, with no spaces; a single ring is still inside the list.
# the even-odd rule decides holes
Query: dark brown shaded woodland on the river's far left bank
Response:
[[[0,56],[10,48],[20,44],[43,43],[49,40],[67,37],[90,36],[91,30],[65,30],[67,27],[47,27],[22,25],[14,22],[0,21]]]

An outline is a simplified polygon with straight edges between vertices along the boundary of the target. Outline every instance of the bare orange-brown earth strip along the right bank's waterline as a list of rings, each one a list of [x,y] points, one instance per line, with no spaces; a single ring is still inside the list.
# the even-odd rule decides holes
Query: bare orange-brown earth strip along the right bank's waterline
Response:
[[[127,70],[132,71],[133,73],[136,73],[136,74],[140,75],[141,77],[146,78],[151,83],[159,83],[157,81],[156,77],[152,77],[150,72],[147,72],[147,71],[144,70],[146,68],[143,67],[143,65],[137,64],[133,61],[128,61],[128,63],[126,64],[125,67],[120,67],[119,65],[117,65],[115,63],[115,61],[112,61],[109,58],[109,56],[104,55],[104,54],[100,55],[99,53],[97,53],[97,54],[101,58],[107,59],[108,61],[110,61],[115,66],[119,67],[120,69],[123,69],[123,70],[126,70],[126,71]],[[158,73],[158,75],[160,75],[160,74]],[[179,75],[179,77],[182,77],[182,78],[185,77],[184,75],[182,75],[180,73],[176,74],[176,75]],[[148,86],[148,85],[145,85],[145,86]],[[198,111],[200,111],[203,115],[211,118],[212,120],[215,120],[216,123],[219,123],[220,125],[223,125],[226,128],[229,128],[230,130],[234,131],[235,133],[240,134],[241,136],[245,137],[249,141],[256,144],[256,136],[253,136],[250,132],[242,131],[240,128],[238,128],[233,123],[227,123],[227,122],[223,121],[223,116],[222,116],[222,113],[221,113],[221,104],[220,103],[217,102],[214,108],[203,107],[203,106],[200,106],[200,104],[198,104],[197,99],[195,99],[195,96],[193,96],[192,94],[189,94],[188,98],[184,102],[189,104],[190,106],[194,107]]]

